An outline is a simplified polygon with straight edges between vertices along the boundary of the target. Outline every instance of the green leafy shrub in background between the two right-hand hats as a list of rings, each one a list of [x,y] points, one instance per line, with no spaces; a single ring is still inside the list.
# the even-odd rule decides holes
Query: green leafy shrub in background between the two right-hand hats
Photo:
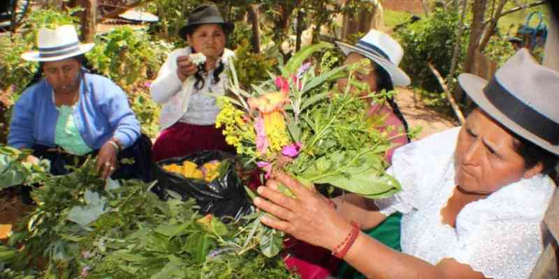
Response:
[[[458,13],[451,10],[437,9],[430,17],[408,24],[396,33],[405,51],[400,66],[412,78],[414,86],[427,91],[442,91],[427,63],[433,63],[441,75],[447,77],[456,43],[460,45],[458,65],[463,61],[468,32],[465,31],[463,37],[456,41],[458,17]],[[456,73],[460,73],[460,68]]]

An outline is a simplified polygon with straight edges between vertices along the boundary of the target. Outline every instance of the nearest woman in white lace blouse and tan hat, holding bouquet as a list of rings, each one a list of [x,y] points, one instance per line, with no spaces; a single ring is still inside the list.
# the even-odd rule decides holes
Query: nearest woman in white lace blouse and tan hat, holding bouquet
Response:
[[[477,104],[461,128],[400,147],[388,172],[402,191],[331,206],[285,174],[258,189],[262,222],[331,250],[368,278],[528,278],[542,252],[541,223],[555,190],[559,73],[517,52],[493,80],[463,74]],[[297,199],[279,193],[283,183]],[[402,218],[402,252],[359,231]]]

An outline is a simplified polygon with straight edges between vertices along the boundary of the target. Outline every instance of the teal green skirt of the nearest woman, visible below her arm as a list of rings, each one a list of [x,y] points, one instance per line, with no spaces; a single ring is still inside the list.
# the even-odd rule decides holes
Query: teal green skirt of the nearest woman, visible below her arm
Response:
[[[394,250],[401,251],[400,248],[400,221],[402,220],[402,213],[396,212],[386,218],[377,227],[368,229],[365,234],[368,234],[377,241],[382,242],[384,245],[389,246]],[[337,278],[347,279],[364,279],[359,271],[356,271],[347,262],[342,262],[340,270],[337,272]]]

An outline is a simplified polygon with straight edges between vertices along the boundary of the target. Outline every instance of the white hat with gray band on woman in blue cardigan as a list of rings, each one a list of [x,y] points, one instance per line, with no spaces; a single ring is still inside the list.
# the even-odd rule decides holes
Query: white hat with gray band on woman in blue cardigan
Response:
[[[94,43],[80,44],[78,33],[72,25],[62,25],[57,29],[41,28],[37,35],[38,50],[25,52],[22,59],[27,61],[59,61],[89,52]]]

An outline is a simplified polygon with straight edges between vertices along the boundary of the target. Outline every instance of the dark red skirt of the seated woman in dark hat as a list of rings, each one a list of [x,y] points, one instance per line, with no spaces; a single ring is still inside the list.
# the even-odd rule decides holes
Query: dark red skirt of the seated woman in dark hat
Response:
[[[235,153],[235,147],[225,142],[222,129],[213,125],[200,126],[177,122],[157,137],[152,148],[152,158],[154,162],[159,162],[210,149]]]

